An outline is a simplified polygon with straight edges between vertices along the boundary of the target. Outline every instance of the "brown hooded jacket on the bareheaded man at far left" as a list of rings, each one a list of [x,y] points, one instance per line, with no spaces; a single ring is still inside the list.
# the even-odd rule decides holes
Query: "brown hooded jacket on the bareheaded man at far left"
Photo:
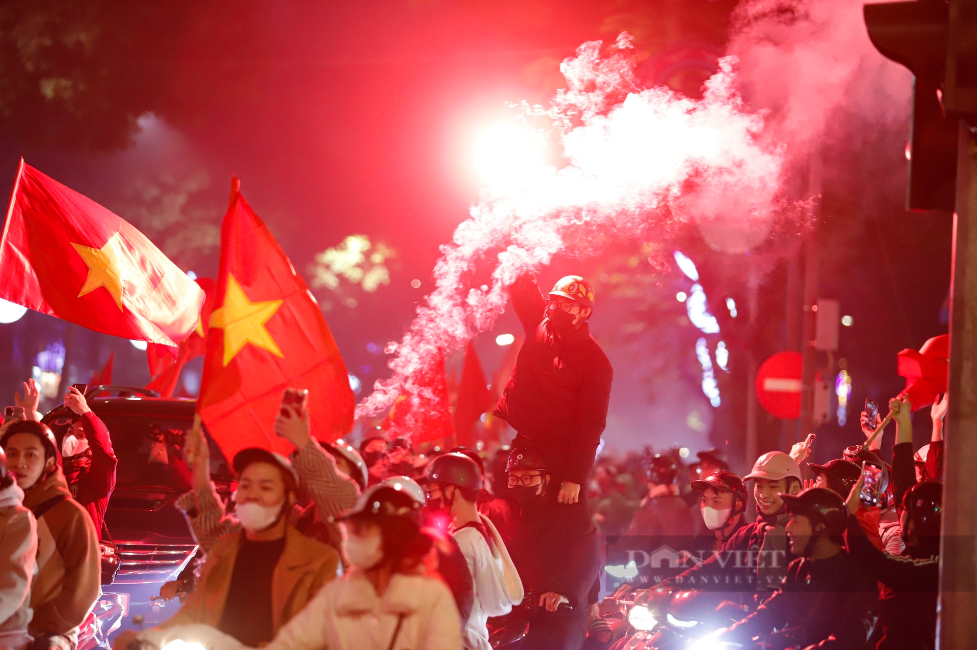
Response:
[[[36,509],[62,498],[37,520],[37,575],[30,587],[33,636],[62,634],[77,640],[78,626],[92,609],[102,584],[102,551],[95,525],[71,498],[61,467],[27,490],[23,504]]]

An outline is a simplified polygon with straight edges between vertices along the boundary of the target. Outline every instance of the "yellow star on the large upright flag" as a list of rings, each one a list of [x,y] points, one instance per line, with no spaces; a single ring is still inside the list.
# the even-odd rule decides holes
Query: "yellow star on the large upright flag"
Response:
[[[275,315],[281,303],[281,300],[249,301],[241,285],[233,275],[228,274],[224,304],[215,309],[210,316],[210,326],[224,330],[225,366],[230,364],[234,355],[248,343],[268,350],[278,357],[283,356],[275,339],[265,328],[265,324]]]

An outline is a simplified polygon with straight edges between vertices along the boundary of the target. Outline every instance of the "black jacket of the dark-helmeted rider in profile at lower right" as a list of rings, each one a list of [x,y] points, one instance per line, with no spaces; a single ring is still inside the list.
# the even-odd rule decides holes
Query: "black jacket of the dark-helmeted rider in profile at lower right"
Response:
[[[769,647],[861,650],[869,647],[877,609],[875,580],[844,549],[822,560],[798,557],[787,567],[781,589],[724,632],[721,640],[745,640],[756,634],[777,639],[772,635],[775,628],[792,628],[789,640]]]

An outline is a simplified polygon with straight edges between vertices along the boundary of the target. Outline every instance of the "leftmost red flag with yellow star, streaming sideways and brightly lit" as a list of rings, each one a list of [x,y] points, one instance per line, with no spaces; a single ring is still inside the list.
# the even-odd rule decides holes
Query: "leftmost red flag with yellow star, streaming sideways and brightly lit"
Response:
[[[193,331],[203,291],[129,223],[21,158],[0,241],[0,298],[176,345]]]

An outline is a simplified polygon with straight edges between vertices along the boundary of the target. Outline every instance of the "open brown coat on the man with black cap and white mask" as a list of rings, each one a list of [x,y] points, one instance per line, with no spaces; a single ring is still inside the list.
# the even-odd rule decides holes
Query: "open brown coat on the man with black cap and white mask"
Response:
[[[160,628],[200,623],[216,628],[234,575],[234,562],[243,532],[214,543],[187,602]],[[285,529],[285,547],[272,574],[272,625],[277,632],[325,585],[336,578],[339,554],[331,546],[310,540],[293,526]]]

